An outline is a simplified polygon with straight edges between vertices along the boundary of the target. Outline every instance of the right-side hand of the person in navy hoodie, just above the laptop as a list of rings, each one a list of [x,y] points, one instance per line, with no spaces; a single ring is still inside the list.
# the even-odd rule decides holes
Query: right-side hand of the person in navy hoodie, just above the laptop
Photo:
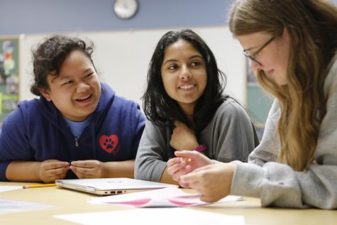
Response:
[[[72,161],[70,170],[72,170],[79,179],[104,177],[104,163],[99,160]]]

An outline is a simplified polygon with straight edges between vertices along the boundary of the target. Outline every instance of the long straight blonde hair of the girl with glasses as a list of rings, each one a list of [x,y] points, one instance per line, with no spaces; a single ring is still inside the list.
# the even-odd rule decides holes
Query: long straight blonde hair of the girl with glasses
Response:
[[[236,36],[280,35],[287,29],[287,85],[278,85],[263,70],[258,71],[258,82],[280,101],[278,161],[304,170],[314,160],[326,113],[324,81],[337,50],[336,6],[324,0],[237,0],[229,27]]]

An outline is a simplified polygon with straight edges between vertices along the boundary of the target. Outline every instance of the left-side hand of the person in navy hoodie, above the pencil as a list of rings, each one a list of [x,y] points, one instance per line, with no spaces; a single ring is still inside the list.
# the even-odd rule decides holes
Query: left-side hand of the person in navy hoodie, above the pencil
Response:
[[[59,160],[45,160],[39,164],[38,174],[40,180],[45,183],[55,182],[64,179],[69,170],[69,163]]]

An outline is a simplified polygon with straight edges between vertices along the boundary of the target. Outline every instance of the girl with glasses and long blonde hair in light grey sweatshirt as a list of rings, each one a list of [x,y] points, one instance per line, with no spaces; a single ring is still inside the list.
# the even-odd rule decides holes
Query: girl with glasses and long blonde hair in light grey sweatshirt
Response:
[[[229,27],[261,87],[275,97],[263,140],[248,163],[192,172],[176,163],[169,168],[172,176],[206,202],[236,194],[259,197],[263,207],[336,209],[336,6],[323,0],[236,0]]]

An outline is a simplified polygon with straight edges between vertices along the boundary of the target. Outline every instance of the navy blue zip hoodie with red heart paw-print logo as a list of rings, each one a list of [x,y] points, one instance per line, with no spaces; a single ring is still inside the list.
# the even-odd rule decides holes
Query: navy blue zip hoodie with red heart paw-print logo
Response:
[[[123,161],[136,158],[145,126],[139,106],[115,95],[101,84],[99,104],[82,135],[74,137],[52,101],[44,97],[21,101],[2,124],[0,133],[0,180],[13,160],[56,159]],[[69,170],[67,178],[76,178]]]

